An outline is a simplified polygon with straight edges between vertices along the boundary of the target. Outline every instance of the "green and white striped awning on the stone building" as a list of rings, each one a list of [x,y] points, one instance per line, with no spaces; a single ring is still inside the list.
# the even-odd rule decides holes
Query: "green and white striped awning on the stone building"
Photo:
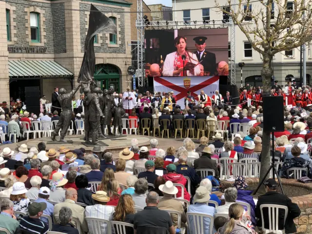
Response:
[[[11,60],[9,61],[10,78],[73,78],[74,74],[55,61]]]

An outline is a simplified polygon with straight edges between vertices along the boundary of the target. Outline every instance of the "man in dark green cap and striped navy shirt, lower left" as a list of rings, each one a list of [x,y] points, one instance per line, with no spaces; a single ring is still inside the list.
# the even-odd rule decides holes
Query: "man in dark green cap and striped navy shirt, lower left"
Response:
[[[44,202],[31,203],[28,207],[29,216],[24,216],[20,220],[20,229],[39,234],[49,231],[48,223],[40,220],[40,216],[43,215],[46,208],[47,204]]]

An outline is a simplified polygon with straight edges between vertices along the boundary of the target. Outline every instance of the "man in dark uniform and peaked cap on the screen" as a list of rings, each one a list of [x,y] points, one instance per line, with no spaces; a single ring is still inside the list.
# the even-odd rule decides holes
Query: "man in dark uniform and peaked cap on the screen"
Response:
[[[206,37],[195,37],[195,47],[197,51],[194,52],[198,61],[204,66],[204,71],[208,76],[214,76],[216,73],[215,54],[205,50]]]

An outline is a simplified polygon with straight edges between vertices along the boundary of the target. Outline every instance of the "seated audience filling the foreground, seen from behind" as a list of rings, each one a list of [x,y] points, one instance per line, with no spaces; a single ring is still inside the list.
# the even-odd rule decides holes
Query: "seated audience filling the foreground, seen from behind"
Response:
[[[251,126],[248,135],[240,132],[233,141],[223,141],[223,136],[216,134],[211,144],[208,137],[201,137],[196,146],[192,139],[185,138],[178,149],[161,149],[153,138],[149,150],[146,146],[138,147],[134,138],[131,147],[115,158],[98,146],[90,153],[83,148],[70,151],[65,147],[46,151],[43,142],[38,149],[28,150],[27,145],[21,145],[18,152],[6,147],[0,154],[0,220],[5,220],[0,227],[11,234],[45,234],[50,229],[51,217],[50,231],[67,234],[78,234],[78,227],[84,234],[115,234],[117,225],[113,221],[133,224],[133,228],[126,227],[126,234],[149,233],[154,229],[159,234],[254,234],[260,230],[268,233],[269,211],[263,210],[262,224],[260,205],[275,204],[288,208],[288,214],[284,212],[278,217],[278,229],[295,233],[293,218],[300,215],[300,209],[277,192],[275,180],[265,182],[266,194],[258,199],[248,190],[247,175],[236,176],[233,187],[226,189],[222,197],[215,193],[219,179],[227,176],[226,171],[232,174],[232,169],[225,170],[220,159],[261,160],[261,117],[258,120],[259,124]],[[281,177],[290,178],[287,169],[292,167],[307,168],[304,176],[312,176],[310,145],[305,140],[312,130],[312,118],[308,117],[306,122],[308,128],[300,119],[293,123],[293,129],[289,122],[285,123],[285,134],[271,141],[277,160],[282,162],[278,168]],[[197,169],[210,171],[203,176]],[[193,213],[206,215],[204,230],[197,226]],[[111,232],[107,222],[97,227],[92,218],[112,222]]]

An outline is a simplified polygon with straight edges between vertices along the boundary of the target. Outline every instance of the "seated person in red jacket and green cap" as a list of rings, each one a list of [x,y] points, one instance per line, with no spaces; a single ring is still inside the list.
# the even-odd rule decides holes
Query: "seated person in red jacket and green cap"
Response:
[[[183,175],[176,173],[176,165],[175,164],[173,164],[173,163],[169,164],[167,166],[167,174],[163,175],[162,177],[164,177],[164,179],[166,181],[170,180],[173,183],[184,185],[184,199],[188,200],[188,201],[191,200],[191,195],[186,190],[187,180]],[[182,192],[181,187],[178,187],[178,186],[176,186],[176,187],[178,190],[176,197],[181,197],[181,192]]]

